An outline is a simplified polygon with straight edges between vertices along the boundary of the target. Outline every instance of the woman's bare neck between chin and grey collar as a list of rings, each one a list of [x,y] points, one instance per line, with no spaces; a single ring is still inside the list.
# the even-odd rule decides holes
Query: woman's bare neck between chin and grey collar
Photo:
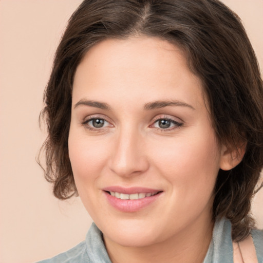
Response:
[[[171,238],[146,247],[123,247],[106,237],[104,242],[112,263],[201,263],[210,245],[213,226],[212,220],[197,221]]]

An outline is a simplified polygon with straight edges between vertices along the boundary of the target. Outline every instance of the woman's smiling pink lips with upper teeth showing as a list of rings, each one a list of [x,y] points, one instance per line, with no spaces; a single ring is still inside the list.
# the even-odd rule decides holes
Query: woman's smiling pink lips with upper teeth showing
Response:
[[[141,187],[123,188],[119,186],[103,189],[111,206],[121,212],[137,212],[161,197],[163,191]]]

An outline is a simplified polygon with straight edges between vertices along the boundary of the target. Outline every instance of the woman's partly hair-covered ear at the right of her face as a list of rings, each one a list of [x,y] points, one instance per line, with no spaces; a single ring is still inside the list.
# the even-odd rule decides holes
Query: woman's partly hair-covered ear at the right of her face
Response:
[[[247,142],[239,142],[237,145],[222,145],[220,168],[229,171],[237,166],[246,153]]]

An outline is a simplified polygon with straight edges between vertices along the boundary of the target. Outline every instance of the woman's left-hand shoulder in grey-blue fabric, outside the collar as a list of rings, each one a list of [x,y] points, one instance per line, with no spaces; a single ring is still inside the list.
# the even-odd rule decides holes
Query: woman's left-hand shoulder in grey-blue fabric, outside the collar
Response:
[[[37,263],[71,263],[71,262],[76,262],[76,263],[90,262],[86,251],[85,241],[82,241],[76,247],[73,247],[70,250],[67,250],[57,256],[39,261]]]

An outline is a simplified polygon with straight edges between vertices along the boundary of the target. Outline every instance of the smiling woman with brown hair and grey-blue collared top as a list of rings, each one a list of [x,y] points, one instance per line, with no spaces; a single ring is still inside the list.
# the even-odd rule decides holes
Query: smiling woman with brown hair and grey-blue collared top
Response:
[[[84,1],[45,102],[46,178],[56,197],[79,195],[95,224],[43,262],[263,260],[249,215],[262,80],[221,2]]]

